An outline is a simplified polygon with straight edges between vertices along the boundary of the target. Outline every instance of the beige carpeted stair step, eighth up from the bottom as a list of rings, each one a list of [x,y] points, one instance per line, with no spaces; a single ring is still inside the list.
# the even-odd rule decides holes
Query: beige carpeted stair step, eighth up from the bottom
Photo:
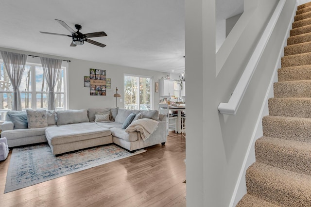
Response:
[[[281,58],[282,67],[293,67],[310,64],[311,64],[311,52],[297,55],[287,55]]]

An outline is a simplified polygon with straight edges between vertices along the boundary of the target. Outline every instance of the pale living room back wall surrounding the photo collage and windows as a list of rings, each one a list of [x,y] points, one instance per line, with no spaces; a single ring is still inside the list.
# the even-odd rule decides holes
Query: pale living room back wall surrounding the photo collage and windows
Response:
[[[154,82],[158,82],[160,78],[166,76],[167,73],[145,70],[140,68],[133,68],[121,65],[104,64],[97,62],[90,62],[78,59],[71,59],[67,57],[52,56],[46,54],[40,54],[29,51],[22,51],[10,48],[0,48],[3,51],[11,51],[35,56],[51,57],[62,60],[70,60],[69,63],[69,109],[85,109],[85,108],[106,108],[116,107],[116,98],[113,95],[116,93],[116,87],[118,87],[118,93],[121,94],[121,98],[118,98],[118,107],[123,108],[124,102],[120,102],[123,99],[123,75],[133,74],[153,77]],[[28,57],[31,58],[31,57]],[[106,90],[106,96],[90,96],[89,88],[84,87],[84,76],[89,76],[89,69],[103,69],[106,70],[106,77],[111,78],[111,89]],[[153,89],[154,92],[154,89]],[[159,93],[154,93],[154,108],[157,109],[159,101]]]

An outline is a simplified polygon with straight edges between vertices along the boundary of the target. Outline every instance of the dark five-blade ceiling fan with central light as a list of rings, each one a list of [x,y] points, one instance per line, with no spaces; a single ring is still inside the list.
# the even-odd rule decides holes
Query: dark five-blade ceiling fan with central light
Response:
[[[70,33],[71,35],[68,34],[57,34],[57,33],[51,33],[51,32],[41,32],[43,34],[54,34],[54,35],[61,35],[61,36],[68,36],[68,37],[72,37],[72,42],[70,44],[71,47],[76,47],[77,45],[83,45],[84,41],[91,43],[93,45],[97,45],[99,47],[104,48],[106,45],[96,42],[94,40],[88,39],[91,37],[103,37],[103,36],[107,36],[107,34],[105,32],[92,32],[92,33],[87,33],[87,34],[83,34],[81,32],[79,32],[79,30],[81,30],[82,26],[79,24],[75,24],[74,27],[78,30],[77,32],[75,32],[74,30],[72,30],[64,21],[59,20],[59,19],[55,19],[58,23],[60,23],[63,27],[65,27]]]

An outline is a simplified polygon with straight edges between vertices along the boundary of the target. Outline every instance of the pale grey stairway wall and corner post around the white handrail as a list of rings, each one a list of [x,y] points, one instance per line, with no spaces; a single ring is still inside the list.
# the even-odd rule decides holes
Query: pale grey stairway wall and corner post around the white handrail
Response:
[[[278,29],[264,50],[237,114],[223,115],[217,107],[230,97],[278,0],[245,2],[248,5],[244,6],[250,9],[255,6],[255,9],[244,26],[243,38],[234,42],[233,50],[217,70],[215,0],[185,0],[187,119],[191,120],[187,122],[186,136],[187,206],[230,205],[283,46],[280,37],[286,35],[292,16],[289,10],[293,10],[295,3],[286,0],[286,9],[277,22]],[[244,9],[243,15],[245,13]]]

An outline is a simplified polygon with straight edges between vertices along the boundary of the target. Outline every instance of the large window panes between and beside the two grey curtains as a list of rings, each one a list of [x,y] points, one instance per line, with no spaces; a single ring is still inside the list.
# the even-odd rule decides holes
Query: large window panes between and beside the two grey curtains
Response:
[[[5,120],[6,111],[12,109],[13,87],[2,60],[0,69],[0,120]],[[67,108],[65,73],[66,67],[62,67],[54,89],[56,110]],[[41,64],[26,63],[19,91],[23,110],[48,109],[48,85]]]

